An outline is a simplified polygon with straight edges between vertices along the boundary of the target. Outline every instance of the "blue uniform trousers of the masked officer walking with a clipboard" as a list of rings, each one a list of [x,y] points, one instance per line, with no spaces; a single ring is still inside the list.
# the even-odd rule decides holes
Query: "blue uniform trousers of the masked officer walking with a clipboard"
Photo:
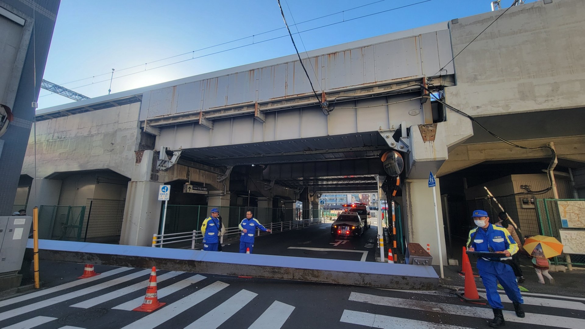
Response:
[[[483,285],[486,287],[487,301],[493,309],[503,309],[502,300],[498,293],[498,281],[500,285],[504,287],[508,298],[511,301],[518,303],[524,303],[518,284],[516,283],[516,276],[514,270],[510,265],[485,261],[484,259],[478,259],[478,263],[481,262],[481,266],[478,266],[479,275]],[[479,269],[481,267],[481,269]]]

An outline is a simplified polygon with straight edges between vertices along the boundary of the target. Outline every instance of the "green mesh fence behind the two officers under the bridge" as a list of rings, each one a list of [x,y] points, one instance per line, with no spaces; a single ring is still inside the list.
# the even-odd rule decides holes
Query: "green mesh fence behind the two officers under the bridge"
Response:
[[[165,220],[164,233],[181,233],[188,231],[199,231],[205,218],[209,217],[212,208],[218,208],[219,215],[225,227],[237,227],[243,218],[246,217],[246,211],[252,210],[254,218],[261,224],[270,222],[287,222],[302,219],[301,209],[291,208],[263,208],[263,207],[212,207],[208,205],[167,205],[167,217]],[[160,223],[162,223],[164,205],[160,211]],[[318,215],[317,212],[314,212]],[[309,215],[310,218],[310,215]],[[159,225],[160,234],[160,225]]]

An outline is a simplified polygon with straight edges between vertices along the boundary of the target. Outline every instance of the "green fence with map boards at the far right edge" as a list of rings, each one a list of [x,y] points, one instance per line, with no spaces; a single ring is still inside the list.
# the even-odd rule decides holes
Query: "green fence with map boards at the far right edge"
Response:
[[[542,235],[555,237],[566,248],[580,253],[563,253],[552,263],[585,265],[585,199],[537,199],[536,213]]]

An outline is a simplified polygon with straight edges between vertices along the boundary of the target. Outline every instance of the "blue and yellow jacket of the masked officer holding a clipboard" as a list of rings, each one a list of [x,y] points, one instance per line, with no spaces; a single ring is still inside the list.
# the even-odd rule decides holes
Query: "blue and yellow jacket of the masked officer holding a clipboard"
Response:
[[[472,241],[473,240],[473,241]],[[471,245],[470,245],[471,243]],[[476,227],[469,231],[469,238],[467,238],[467,245],[472,246],[475,251],[484,251],[490,252],[491,251],[505,251],[507,250],[510,252],[510,255],[514,255],[514,253],[518,252],[518,244],[514,241],[510,232],[507,229],[490,224],[487,227],[487,231],[484,231],[482,228]],[[505,259],[512,259],[511,257],[504,257],[501,258],[502,260]],[[495,267],[494,267],[495,266]],[[498,261],[491,261],[488,258],[478,258],[477,259],[477,269],[483,270],[484,272],[500,272],[505,267],[504,263],[500,263]]]

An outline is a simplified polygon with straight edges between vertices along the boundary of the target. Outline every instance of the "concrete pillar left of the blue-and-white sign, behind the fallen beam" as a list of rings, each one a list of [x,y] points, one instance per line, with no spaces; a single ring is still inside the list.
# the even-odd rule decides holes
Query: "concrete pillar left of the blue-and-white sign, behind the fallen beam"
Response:
[[[121,245],[150,246],[152,235],[159,234],[162,201],[158,200],[158,196],[161,183],[150,180],[153,156],[153,150],[143,152],[142,159],[133,169],[132,180],[128,182]]]

